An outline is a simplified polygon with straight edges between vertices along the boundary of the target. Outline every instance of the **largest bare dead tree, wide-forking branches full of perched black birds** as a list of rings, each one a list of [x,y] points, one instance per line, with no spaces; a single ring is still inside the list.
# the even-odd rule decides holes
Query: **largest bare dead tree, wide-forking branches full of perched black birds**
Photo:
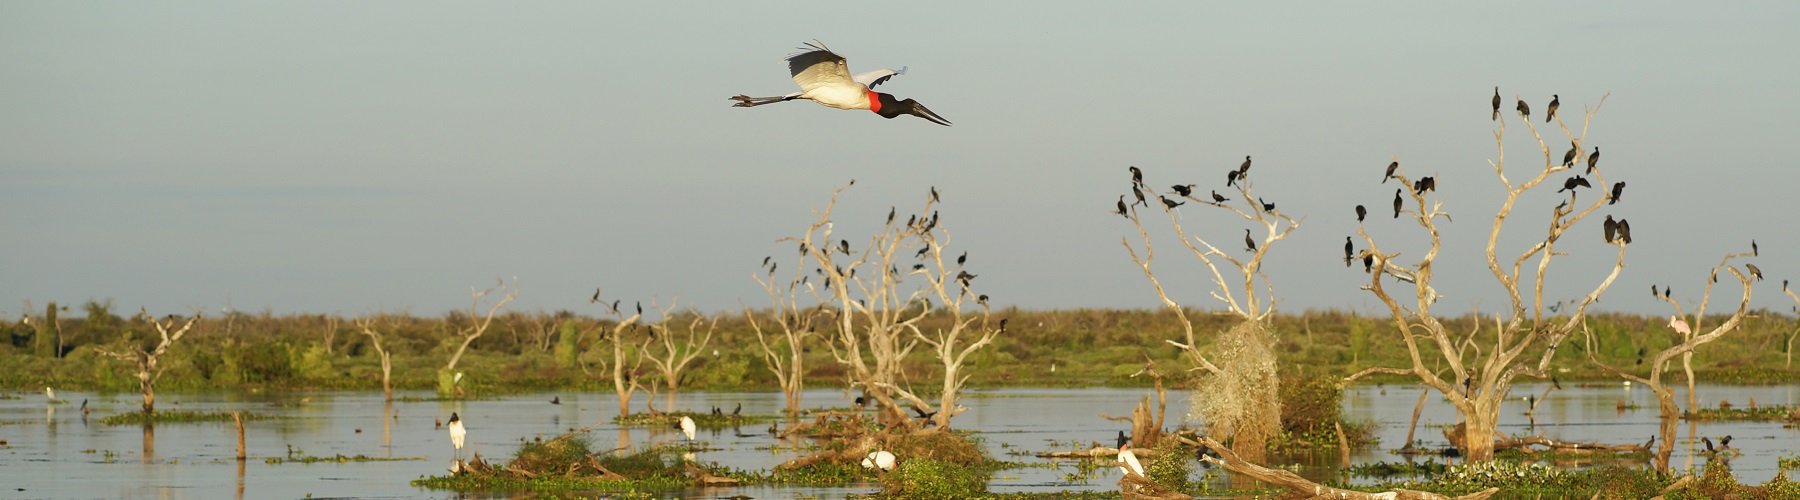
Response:
[[[1586,110],[1580,133],[1570,131],[1562,124],[1561,115],[1557,117],[1557,126],[1566,137],[1570,137],[1571,151],[1570,160],[1553,158],[1552,147],[1544,142],[1543,135],[1525,121],[1526,129],[1537,140],[1537,147],[1543,153],[1544,164],[1535,169],[1534,174],[1514,183],[1507,178],[1507,121],[1499,121],[1499,129],[1494,131],[1494,144],[1498,149],[1498,158],[1489,160],[1494,174],[1499,178],[1501,187],[1507,191],[1507,198],[1499,210],[1494,214],[1494,223],[1487,239],[1487,266],[1494,279],[1507,290],[1510,306],[1505,313],[1494,315],[1492,329],[1481,327],[1481,318],[1476,315],[1476,326],[1467,335],[1451,333],[1431,311],[1431,306],[1438,300],[1438,291],[1431,286],[1435,263],[1438,250],[1442,248],[1436,219],[1451,219],[1451,214],[1444,210],[1444,201],[1435,196],[1427,198],[1427,192],[1435,189],[1426,187],[1424,178],[1418,182],[1411,180],[1404,169],[1399,169],[1393,178],[1400,180],[1402,192],[1409,192],[1411,207],[1406,209],[1420,228],[1431,236],[1431,246],[1424,255],[1413,264],[1393,263],[1402,252],[1384,252],[1375,243],[1375,239],[1366,232],[1366,227],[1357,225],[1357,234],[1366,243],[1366,250],[1359,252],[1355,257],[1370,257],[1373,261],[1373,273],[1370,273],[1370,284],[1363,286],[1375,293],[1377,299],[1388,308],[1397,327],[1397,335],[1406,344],[1411,358],[1411,367],[1370,367],[1357,374],[1346,378],[1354,381],[1368,374],[1411,374],[1417,376],[1426,385],[1442,392],[1453,406],[1462,414],[1463,424],[1458,426],[1460,432],[1451,433],[1451,442],[1463,450],[1469,460],[1490,460],[1494,459],[1494,424],[1499,421],[1501,403],[1507,399],[1512,381],[1519,376],[1530,378],[1548,378],[1546,369],[1550,360],[1555,358],[1557,345],[1568,338],[1588,317],[1588,306],[1600,300],[1600,295],[1618,279],[1618,273],[1625,268],[1625,241],[1616,237],[1609,241],[1616,246],[1618,255],[1613,264],[1611,273],[1595,288],[1575,302],[1573,309],[1568,311],[1566,318],[1555,315],[1546,317],[1544,309],[1544,282],[1550,272],[1550,263],[1553,257],[1568,255],[1555,248],[1557,241],[1577,223],[1586,219],[1589,214],[1600,210],[1607,205],[1607,196],[1595,196],[1586,207],[1580,205],[1579,189],[1573,183],[1566,183],[1564,189],[1570,191],[1568,198],[1550,209],[1550,225],[1543,239],[1534,241],[1528,248],[1519,252],[1512,259],[1512,266],[1501,264],[1498,255],[1499,232],[1512,216],[1519,196],[1544,185],[1555,173],[1570,171],[1577,164],[1588,158],[1584,151],[1584,138],[1588,137],[1588,126],[1593,122],[1595,113],[1606,103],[1600,99],[1595,106]],[[1395,158],[1399,164],[1399,158]],[[1595,185],[1606,185],[1606,171],[1600,167],[1591,167],[1591,174],[1597,180]],[[1570,178],[1568,182],[1573,182]],[[1411,185],[1413,189],[1404,189]],[[1431,182],[1435,185],[1435,180]],[[1397,196],[1397,216],[1402,212],[1399,192]],[[1611,234],[1607,234],[1611,236]],[[1535,259],[1535,266],[1530,273],[1523,268],[1528,261]],[[1393,277],[1397,282],[1404,282],[1404,288],[1411,288],[1411,306],[1402,306],[1399,297],[1388,290],[1386,277]],[[1426,344],[1427,347],[1422,347]],[[1427,356],[1442,360],[1447,365],[1449,379],[1445,379],[1438,371],[1427,367]],[[1436,363],[1436,362],[1433,362]]]

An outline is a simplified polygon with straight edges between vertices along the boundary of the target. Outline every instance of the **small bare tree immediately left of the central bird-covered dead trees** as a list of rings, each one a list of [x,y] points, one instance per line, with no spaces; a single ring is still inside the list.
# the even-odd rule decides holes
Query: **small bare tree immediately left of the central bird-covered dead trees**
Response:
[[[790,279],[785,286],[776,282],[776,270],[779,268],[774,257],[769,257],[767,275],[751,273],[758,284],[769,291],[770,308],[767,313],[752,311],[743,306],[743,318],[751,324],[751,331],[756,331],[756,345],[761,347],[763,360],[769,363],[769,371],[774,372],[776,383],[781,385],[781,396],[787,401],[787,414],[799,415],[799,397],[801,387],[806,381],[806,338],[817,335],[817,327],[823,317],[823,308],[801,308],[801,282],[806,281],[803,270],[808,255],[799,257],[799,266],[794,266]]]

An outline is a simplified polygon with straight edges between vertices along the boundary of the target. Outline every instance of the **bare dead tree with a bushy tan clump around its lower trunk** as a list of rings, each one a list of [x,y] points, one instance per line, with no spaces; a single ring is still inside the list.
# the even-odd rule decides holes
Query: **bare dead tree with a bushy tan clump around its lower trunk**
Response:
[[[1141,194],[1143,189],[1150,189],[1150,183],[1139,182],[1138,176],[1141,171],[1132,169],[1132,189],[1138,191],[1136,194]],[[1262,261],[1278,241],[1287,239],[1289,234],[1300,228],[1303,219],[1282,214],[1274,203],[1256,198],[1249,169],[1238,169],[1231,174],[1231,180],[1237,187],[1237,200],[1220,200],[1224,196],[1217,196],[1217,192],[1202,200],[1192,192],[1190,185],[1190,191],[1177,189],[1177,192],[1170,192],[1179,196],[1177,200],[1186,201],[1172,201],[1166,194],[1159,194],[1157,200],[1161,205],[1145,203],[1150,210],[1161,210],[1168,216],[1174,236],[1211,272],[1211,297],[1226,306],[1226,311],[1220,315],[1237,318],[1233,327],[1213,335],[1213,353],[1222,360],[1220,363],[1213,363],[1213,358],[1201,349],[1201,333],[1195,331],[1193,320],[1188,318],[1188,309],[1163,288],[1163,281],[1152,270],[1156,246],[1150,243],[1150,232],[1143,225],[1143,212],[1136,205],[1123,205],[1123,201],[1120,209],[1125,210],[1123,216],[1138,228],[1139,239],[1138,246],[1129,237],[1121,237],[1120,245],[1130,252],[1132,263],[1143,270],[1143,277],[1156,290],[1156,297],[1183,326],[1184,338],[1166,342],[1179,347],[1193,362],[1193,371],[1202,372],[1195,385],[1193,414],[1206,423],[1208,433],[1215,439],[1224,441],[1229,437],[1237,453],[1262,460],[1267,439],[1282,430],[1280,378],[1274,363],[1274,336],[1269,326],[1269,317],[1274,313],[1276,304],[1274,282],[1262,272]],[[1150,194],[1156,192],[1152,191]],[[1181,205],[1201,205],[1206,210],[1217,209],[1228,216],[1235,214],[1262,230],[1262,243],[1256,245],[1256,239],[1251,237],[1253,232],[1246,230],[1244,239],[1249,257],[1240,259],[1231,252],[1220,250],[1206,237],[1188,234],[1181,218]]]

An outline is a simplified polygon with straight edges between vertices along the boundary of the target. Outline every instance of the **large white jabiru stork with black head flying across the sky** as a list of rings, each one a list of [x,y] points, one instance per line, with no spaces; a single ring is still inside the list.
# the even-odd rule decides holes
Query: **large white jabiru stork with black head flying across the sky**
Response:
[[[787,59],[788,74],[794,76],[794,83],[801,88],[799,92],[776,97],[733,95],[731,101],[738,101],[738,104],[731,106],[752,108],[794,99],[812,99],[814,103],[839,110],[869,110],[884,119],[914,115],[934,124],[950,126],[950,121],[925,110],[925,106],[918,104],[918,101],[900,101],[895,99],[893,94],[871,90],[898,74],[905,74],[905,67],[900,67],[898,72],[880,68],[851,76],[850,65],[844,63],[844,56],[837,56],[837,52],[826,49],[824,43],[814,40],[812,43],[806,43],[806,47],[801,47],[801,50],[806,52],[788,56]]]

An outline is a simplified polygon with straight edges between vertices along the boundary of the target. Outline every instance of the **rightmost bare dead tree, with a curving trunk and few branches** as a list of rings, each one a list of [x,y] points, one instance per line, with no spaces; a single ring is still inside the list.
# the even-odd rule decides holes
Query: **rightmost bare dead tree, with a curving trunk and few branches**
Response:
[[[1661,441],[1661,444],[1656,448],[1656,471],[1660,471],[1660,473],[1669,473],[1669,457],[1676,450],[1676,424],[1681,421],[1681,408],[1676,406],[1674,390],[1669,388],[1669,385],[1663,383],[1663,372],[1669,371],[1667,369],[1669,362],[1674,360],[1676,356],[1690,358],[1694,354],[1694,349],[1697,349],[1699,345],[1705,345],[1708,342],[1719,340],[1726,333],[1735,331],[1737,326],[1744,322],[1744,317],[1750,313],[1750,295],[1751,295],[1751,286],[1750,284],[1751,284],[1751,281],[1744,273],[1737,272],[1737,268],[1733,268],[1730,263],[1732,263],[1732,259],[1748,257],[1748,255],[1750,255],[1748,252],[1746,254],[1730,254],[1730,255],[1724,255],[1724,259],[1719,261],[1719,264],[1712,268],[1712,275],[1719,275],[1719,270],[1726,270],[1732,275],[1735,275],[1737,281],[1744,286],[1744,293],[1742,293],[1742,297],[1737,302],[1737,311],[1733,311],[1732,317],[1724,318],[1724,322],[1721,322],[1719,326],[1715,326],[1712,331],[1706,331],[1706,333],[1701,333],[1701,335],[1694,335],[1690,331],[1687,335],[1681,335],[1681,338],[1676,342],[1676,345],[1670,345],[1669,349],[1658,351],[1651,358],[1652,363],[1651,363],[1651,374],[1649,374],[1649,378],[1636,376],[1636,374],[1625,372],[1622,369],[1615,369],[1615,367],[1611,367],[1607,363],[1602,363],[1600,358],[1595,356],[1595,351],[1598,351],[1600,345],[1595,342],[1593,333],[1588,331],[1588,326],[1582,324],[1582,335],[1586,336],[1586,342],[1588,342],[1586,344],[1586,347],[1588,347],[1588,362],[1595,363],[1600,369],[1606,369],[1607,372],[1613,372],[1618,378],[1647,385],[1647,387],[1651,387],[1651,392],[1656,394],[1656,405],[1661,410],[1661,426],[1658,428],[1658,433],[1654,437],[1654,439]],[[1706,293],[1701,297],[1701,304],[1703,304],[1701,311],[1694,311],[1696,324],[1697,324],[1699,318],[1705,317],[1705,308],[1706,308],[1705,304],[1706,304],[1706,299],[1712,297],[1712,284],[1714,284],[1712,281],[1706,282]],[[1793,295],[1793,293],[1789,291],[1789,295]],[[1674,306],[1674,309],[1676,309],[1676,317],[1674,318],[1685,317],[1681,313],[1681,304],[1678,304],[1674,299],[1669,299],[1669,297],[1665,297],[1663,300],[1667,300],[1670,306]],[[1692,406],[1694,405],[1692,403],[1692,397],[1694,397],[1692,379],[1694,379],[1694,372],[1688,371],[1688,410],[1694,410],[1694,406]]]

